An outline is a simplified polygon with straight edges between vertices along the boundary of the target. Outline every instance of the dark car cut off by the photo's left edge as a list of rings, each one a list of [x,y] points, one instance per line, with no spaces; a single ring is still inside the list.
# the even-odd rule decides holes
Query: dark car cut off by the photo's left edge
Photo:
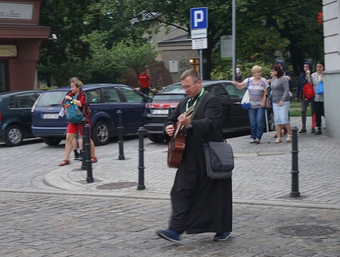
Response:
[[[34,137],[31,109],[41,90],[21,90],[0,93],[0,141],[18,146],[24,138]]]

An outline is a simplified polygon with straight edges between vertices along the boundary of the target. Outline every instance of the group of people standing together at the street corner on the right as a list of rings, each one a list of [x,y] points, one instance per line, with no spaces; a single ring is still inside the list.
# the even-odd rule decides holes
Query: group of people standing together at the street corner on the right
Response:
[[[316,72],[311,74],[313,69],[313,64],[311,62],[305,62],[303,66],[303,71],[299,77],[295,101],[298,102],[298,97],[301,93],[301,119],[302,119],[302,129],[299,131],[300,134],[306,133],[306,110],[308,104],[311,103],[312,114],[313,114],[313,128],[312,133],[315,135],[322,134],[321,131],[321,116],[324,115],[324,105],[323,105],[323,94],[316,94],[311,99],[307,99],[303,93],[303,86],[308,82],[313,85],[314,92],[317,91],[317,87],[321,82],[323,82],[322,72],[325,70],[325,65],[323,62],[317,62]],[[277,138],[275,143],[281,143],[282,139],[282,129],[285,129],[284,134],[287,133],[286,142],[292,141],[291,125],[289,121],[289,109],[291,105],[291,91],[293,87],[291,75],[286,71],[285,62],[280,60],[275,65],[271,67],[270,78],[268,80],[262,77],[262,70],[260,66],[254,66],[251,69],[253,77],[246,78],[242,83],[233,84],[238,88],[247,88],[249,91],[249,104],[248,109],[251,140],[250,143],[259,144],[261,137],[263,135],[264,129],[264,115],[266,103],[268,107],[273,108],[274,114],[274,124],[276,129]],[[268,101],[268,102],[267,102]],[[314,129],[314,124],[316,123],[317,130]]]

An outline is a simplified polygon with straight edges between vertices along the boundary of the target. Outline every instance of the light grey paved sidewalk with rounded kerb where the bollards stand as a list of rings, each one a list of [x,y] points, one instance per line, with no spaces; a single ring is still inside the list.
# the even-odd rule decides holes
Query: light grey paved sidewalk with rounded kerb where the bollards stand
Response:
[[[300,125],[300,118],[291,118],[292,127]],[[323,129],[324,132],[325,129]],[[249,144],[249,136],[228,139],[235,155],[233,171],[233,199],[236,203],[261,203],[285,206],[311,206],[340,209],[340,142],[324,134],[298,135],[299,198],[291,198],[292,144],[275,144],[275,132],[263,134],[260,144]],[[93,183],[87,183],[87,171],[79,169],[81,162],[73,161],[45,176],[50,186],[86,194],[124,197],[169,199],[176,169],[166,165],[167,144],[144,140],[145,190],[136,186],[109,189],[110,183],[138,183],[139,142],[124,142],[125,160],[118,160],[115,149],[97,147],[98,162],[93,164]],[[104,151],[102,151],[104,150]],[[100,189],[107,185],[108,189]],[[126,183],[129,186],[128,183]],[[112,185],[114,186],[114,185]],[[99,187],[99,188],[98,188]]]

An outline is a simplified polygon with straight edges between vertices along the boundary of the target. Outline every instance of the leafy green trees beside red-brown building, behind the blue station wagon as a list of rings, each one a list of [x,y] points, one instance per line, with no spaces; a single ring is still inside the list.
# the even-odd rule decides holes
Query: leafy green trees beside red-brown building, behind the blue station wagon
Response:
[[[116,22],[103,15],[93,6],[97,2],[50,0],[42,10],[41,24],[51,27],[58,38],[41,49],[38,76],[48,86],[66,86],[75,76],[84,83],[118,83],[128,72],[112,46],[125,38],[140,40],[141,32],[130,21]]]

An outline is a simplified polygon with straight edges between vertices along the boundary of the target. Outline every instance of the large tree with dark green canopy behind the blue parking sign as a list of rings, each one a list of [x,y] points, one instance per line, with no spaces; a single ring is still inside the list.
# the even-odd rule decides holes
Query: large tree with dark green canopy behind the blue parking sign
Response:
[[[231,35],[232,2],[223,0],[102,0],[94,4],[104,15],[116,21],[138,20],[147,28],[147,20],[176,26],[190,33],[190,8],[208,7],[208,49],[203,50],[204,78],[214,66],[213,53],[219,52],[220,36]],[[322,27],[317,24],[322,10],[319,0],[300,2],[270,0],[236,0],[237,56],[241,61],[258,58],[272,63],[277,55],[292,64],[299,73],[306,58],[321,57]]]

